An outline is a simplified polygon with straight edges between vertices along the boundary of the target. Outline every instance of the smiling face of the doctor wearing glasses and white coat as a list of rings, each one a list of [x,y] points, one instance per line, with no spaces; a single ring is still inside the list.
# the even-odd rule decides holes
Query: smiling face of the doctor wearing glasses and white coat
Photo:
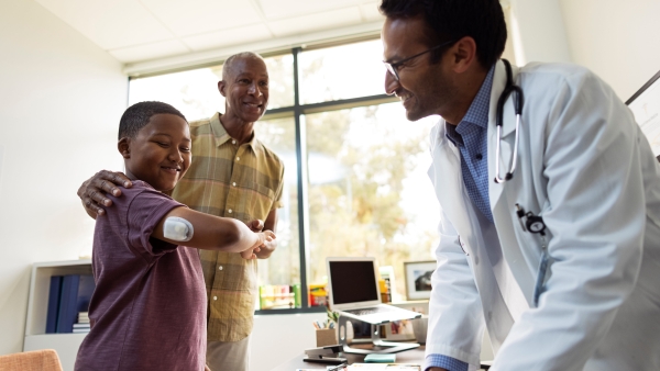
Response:
[[[430,49],[425,37],[425,21],[421,18],[387,19],[383,25],[383,60],[397,63]],[[385,91],[395,94],[404,103],[406,117],[410,121],[442,114],[455,92],[449,71],[442,69],[442,58],[430,63],[431,53],[425,53],[397,68],[399,80],[385,72]]]

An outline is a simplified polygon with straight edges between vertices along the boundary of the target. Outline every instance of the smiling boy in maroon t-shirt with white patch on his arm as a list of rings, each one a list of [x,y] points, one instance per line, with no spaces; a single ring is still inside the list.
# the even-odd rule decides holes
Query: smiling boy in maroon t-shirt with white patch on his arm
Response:
[[[97,218],[91,330],[75,369],[205,370],[207,293],[195,248],[252,259],[275,235],[189,210],[161,193],[190,165],[188,123],[173,106],[130,106],[119,138],[127,176],[134,181],[122,196],[109,195],[114,207]]]

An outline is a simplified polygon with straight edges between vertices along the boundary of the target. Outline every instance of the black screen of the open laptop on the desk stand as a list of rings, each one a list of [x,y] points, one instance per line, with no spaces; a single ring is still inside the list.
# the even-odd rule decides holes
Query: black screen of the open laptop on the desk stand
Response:
[[[329,270],[334,304],[378,300],[373,260],[330,261]]]

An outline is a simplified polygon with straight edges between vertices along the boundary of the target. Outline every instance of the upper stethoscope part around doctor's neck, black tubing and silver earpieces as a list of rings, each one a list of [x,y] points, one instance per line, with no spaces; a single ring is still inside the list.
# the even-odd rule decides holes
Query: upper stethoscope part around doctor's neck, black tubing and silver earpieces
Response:
[[[497,145],[495,147],[495,182],[504,183],[507,180],[514,178],[514,171],[516,171],[516,159],[518,157],[518,133],[520,130],[520,115],[522,114],[522,104],[525,103],[525,95],[522,94],[522,89],[514,83],[514,72],[512,71],[512,65],[508,60],[502,59],[504,63],[504,67],[506,69],[506,86],[504,87],[504,91],[499,95],[497,100],[497,111],[495,111],[495,124],[497,126]],[[516,92],[514,97],[514,110],[516,112],[516,139],[514,143],[514,156],[512,156],[512,165],[509,171],[506,172],[504,178],[499,178],[499,145],[502,143],[502,124],[503,124],[503,115],[504,115],[504,103],[506,103],[507,99],[512,93]]]

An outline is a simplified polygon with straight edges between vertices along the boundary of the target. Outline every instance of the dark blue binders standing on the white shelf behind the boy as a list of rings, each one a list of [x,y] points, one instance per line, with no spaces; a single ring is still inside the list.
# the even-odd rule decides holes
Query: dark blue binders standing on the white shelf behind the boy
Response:
[[[91,274],[67,274],[51,277],[46,334],[74,331],[78,313],[89,310],[89,301],[96,289]],[[87,319],[89,323],[89,319]],[[87,330],[89,331],[89,324]]]

